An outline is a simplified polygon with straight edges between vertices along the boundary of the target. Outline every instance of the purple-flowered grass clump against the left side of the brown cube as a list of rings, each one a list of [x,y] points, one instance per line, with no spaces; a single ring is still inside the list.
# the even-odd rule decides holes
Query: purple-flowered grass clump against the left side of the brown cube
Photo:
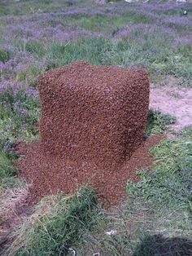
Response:
[[[14,90],[10,86],[0,94],[0,146],[5,152],[19,139],[38,135],[40,104],[34,92],[30,88]]]

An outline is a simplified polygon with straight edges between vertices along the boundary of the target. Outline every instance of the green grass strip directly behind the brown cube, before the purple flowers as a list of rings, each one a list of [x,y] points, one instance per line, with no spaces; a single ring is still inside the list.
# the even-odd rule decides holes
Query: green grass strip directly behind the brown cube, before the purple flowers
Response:
[[[137,65],[149,71],[151,82],[162,84],[165,77],[178,78],[178,83],[191,86],[191,46],[178,45],[175,49],[168,35],[149,33],[145,40],[138,38],[136,30],[129,37],[121,39],[81,38],[72,42],[53,42],[43,45],[42,42],[28,42],[24,51],[33,53],[37,60],[44,58],[45,69],[56,68],[76,60],[86,60],[91,64],[117,65],[130,67]],[[35,77],[35,75],[34,75]],[[178,85],[179,85],[178,84]]]

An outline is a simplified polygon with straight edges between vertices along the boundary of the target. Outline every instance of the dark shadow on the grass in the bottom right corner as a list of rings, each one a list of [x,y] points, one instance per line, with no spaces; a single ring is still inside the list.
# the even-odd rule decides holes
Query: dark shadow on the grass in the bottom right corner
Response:
[[[168,238],[161,235],[146,236],[133,256],[190,256],[192,241],[181,237]]]

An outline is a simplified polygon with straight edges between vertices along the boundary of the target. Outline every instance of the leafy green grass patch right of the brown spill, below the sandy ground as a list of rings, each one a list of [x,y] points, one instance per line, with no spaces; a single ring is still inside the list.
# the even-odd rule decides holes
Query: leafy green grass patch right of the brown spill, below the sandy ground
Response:
[[[183,205],[190,209],[190,176],[192,170],[192,129],[181,139],[164,139],[151,153],[155,157],[154,170],[140,170],[141,181],[129,181],[129,195],[139,196],[153,205],[171,209]]]

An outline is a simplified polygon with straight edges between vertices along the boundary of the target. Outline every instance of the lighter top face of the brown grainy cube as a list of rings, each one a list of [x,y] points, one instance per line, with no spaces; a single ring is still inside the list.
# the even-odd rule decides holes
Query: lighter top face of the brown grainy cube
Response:
[[[142,86],[138,80],[146,76],[146,72],[138,68],[96,66],[80,60],[41,75],[40,97],[43,100],[46,95],[63,95],[63,91],[71,90],[107,99],[111,95],[133,92],[135,86]]]

